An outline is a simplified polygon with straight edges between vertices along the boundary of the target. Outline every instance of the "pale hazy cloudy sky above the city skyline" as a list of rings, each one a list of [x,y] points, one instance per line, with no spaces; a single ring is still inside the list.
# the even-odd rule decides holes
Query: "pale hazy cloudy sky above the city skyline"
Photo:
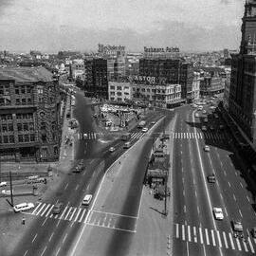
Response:
[[[245,0],[0,0],[0,50],[235,49]]]

